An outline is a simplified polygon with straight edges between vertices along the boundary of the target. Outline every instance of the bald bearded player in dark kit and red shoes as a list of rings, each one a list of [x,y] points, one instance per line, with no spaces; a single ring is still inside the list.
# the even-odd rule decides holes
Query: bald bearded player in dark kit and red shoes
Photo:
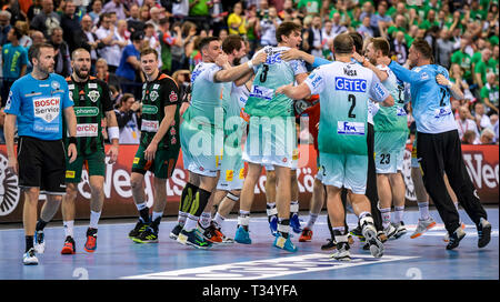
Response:
[[[78,157],[73,162],[66,163],[66,195],[62,199],[61,212],[64,225],[64,244],[61,254],[74,254],[74,217],[78,194],[78,184],[81,181],[83,167],[89,174],[90,185],[90,224],[87,229],[87,240],[83,250],[93,253],[97,249],[98,223],[104,203],[104,172],[106,157],[110,157],[109,163],[118,159],[119,130],[117,118],[110,99],[108,84],[90,76],[90,52],[79,48],[71,53],[71,67],[73,72],[66,79],[69,95],[74,103],[77,115],[77,150]],[[104,139],[102,137],[101,120],[106,118],[109,138],[112,141],[108,154],[104,153]],[[66,132],[66,130],[64,130]],[[64,138],[68,148],[69,138]],[[44,207],[41,210],[40,220],[37,223],[37,234],[43,233],[47,222],[42,218],[52,218],[57,208]],[[43,252],[43,245],[39,245],[38,252]]]

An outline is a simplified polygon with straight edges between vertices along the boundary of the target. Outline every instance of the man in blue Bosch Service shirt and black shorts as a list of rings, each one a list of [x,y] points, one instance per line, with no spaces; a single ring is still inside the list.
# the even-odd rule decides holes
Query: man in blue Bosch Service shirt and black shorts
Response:
[[[37,265],[36,245],[43,234],[34,233],[37,204],[40,193],[47,194],[46,205],[59,208],[66,192],[66,157],[77,158],[77,119],[68,83],[54,74],[54,50],[51,44],[31,46],[28,57],[33,71],[13,82],[6,104],[6,145],[8,170],[19,172],[19,187],[24,194],[23,217],[26,236],[24,265]],[[62,115],[68,125],[68,152],[62,144]],[[18,125],[18,153],[14,153],[14,131]],[[64,135],[66,137],[66,135]],[[43,218],[43,213],[40,214]],[[47,222],[50,218],[46,218]]]

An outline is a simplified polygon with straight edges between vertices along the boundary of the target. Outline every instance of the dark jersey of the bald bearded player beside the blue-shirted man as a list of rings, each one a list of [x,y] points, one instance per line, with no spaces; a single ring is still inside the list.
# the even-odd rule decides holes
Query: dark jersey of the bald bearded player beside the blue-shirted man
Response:
[[[77,82],[71,77],[66,79],[77,115],[78,154],[92,154],[104,150],[101,120],[107,111],[113,110],[108,84],[94,77],[86,82]],[[64,133],[66,124],[63,123]],[[64,135],[64,143],[69,141]]]

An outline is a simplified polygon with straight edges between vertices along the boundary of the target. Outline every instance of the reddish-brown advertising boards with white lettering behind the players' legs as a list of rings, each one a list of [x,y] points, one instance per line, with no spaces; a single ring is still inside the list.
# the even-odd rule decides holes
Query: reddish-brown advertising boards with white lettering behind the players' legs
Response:
[[[137,209],[133,204],[132,192],[130,189],[130,170],[137,145],[121,145],[118,163],[108,165],[106,170],[104,194],[106,201],[101,218],[130,218],[137,217]],[[300,191],[300,209],[309,209],[309,200],[311,198],[312,184],[316,167],[316,151],[312,145],[301,144],[299,148],[301,167],[297,174],[299,178]],[[498,145],[463,145],[463,160],[468,168],[478,194],[483,203],[498,204],[499,188],[499,147]],[[182,152],[181,152],[182,153]],[[411,145],[407,145],[404,154],[403,174],[407,184],[407,205],[416,205],[413,184],[410,178],[410,157]],[[21,222],[22,221],[22,198],[17,187],[18,178],[11,174],[7,168],[6,145],[0,145],[0,222]],[[182,154],[179,157],[172,178],[167,183],[168,202],[164,211],[166,215],[177,215],[179,208],[179,199],[182,189],[188,179],[188,172],[182,168]],[[221,177],[243,177],[240,171],[228,173]],[[148,205],[152,205],[152,175],[146,174],[146,197]],[[264,195],[266,172],[256,187],[256,199],[252,211],[266,211]],[[90,188],[88,185],[88,174],[83,172],[82,182],[78,185],[79,194],[77,199],[77,219],[89,219],[89,198]],[[44,200],[42,195],[40,198]],[[42,202],[40,202],[40,208]],[[239,210],[236,205],[234,211]],[[60,211],[54,220],[60,220]]]

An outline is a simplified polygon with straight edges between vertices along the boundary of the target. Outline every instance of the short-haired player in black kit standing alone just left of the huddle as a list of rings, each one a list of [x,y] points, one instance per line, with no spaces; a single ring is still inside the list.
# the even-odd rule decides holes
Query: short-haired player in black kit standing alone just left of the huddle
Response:
[[[129,238],[137,243],[158,243],[158,232],[167,205],[167,179],[172,175],[180,151],[179,88],[176,81],[159,69],[158,52],[148,48],[140,53],[142,85],[141,140],[133,158],[132,198],[139,221]],[[153,178],[152,215],[146,203],[143,181],[150,171]]]

